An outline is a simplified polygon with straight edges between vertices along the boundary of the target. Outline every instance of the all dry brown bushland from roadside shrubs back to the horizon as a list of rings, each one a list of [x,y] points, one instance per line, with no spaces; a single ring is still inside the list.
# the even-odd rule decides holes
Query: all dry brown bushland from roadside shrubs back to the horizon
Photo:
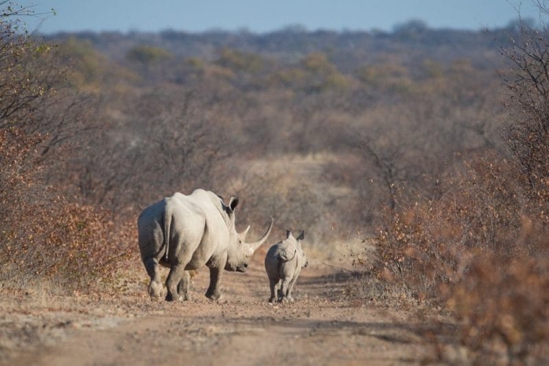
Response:
[[[0,5],[5,288],[116,288],[141,209],[205,187],[309,257],[362,242],[353,296],[447,311],[441,359],[548,361],[546,27],[40,36]]]

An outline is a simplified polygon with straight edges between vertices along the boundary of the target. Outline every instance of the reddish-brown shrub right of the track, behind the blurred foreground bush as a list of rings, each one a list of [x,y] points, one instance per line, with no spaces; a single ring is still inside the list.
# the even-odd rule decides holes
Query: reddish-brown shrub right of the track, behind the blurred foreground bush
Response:
[[[436,297],[440,284],[456,283],[476,253],[512,258],[522,213],[507,168],[494,157],[471,159],[439,181],[436,194],[399,192],[398,208],[380,216],[378,275],[425,299]]]

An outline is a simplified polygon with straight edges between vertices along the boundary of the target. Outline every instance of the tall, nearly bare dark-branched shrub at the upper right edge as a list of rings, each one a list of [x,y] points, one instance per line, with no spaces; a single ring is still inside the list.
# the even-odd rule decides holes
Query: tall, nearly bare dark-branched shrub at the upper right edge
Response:
[[[545,1],[537,3],[540,16],[549,14],[547,5]],[[533,29],[522,22],[516,40],[501,50],[509,62],[502,73],[511,114],[504,129],[506,144],[521,171],[524,191],[546,204],[549,202],[548,50],[548,25]]]

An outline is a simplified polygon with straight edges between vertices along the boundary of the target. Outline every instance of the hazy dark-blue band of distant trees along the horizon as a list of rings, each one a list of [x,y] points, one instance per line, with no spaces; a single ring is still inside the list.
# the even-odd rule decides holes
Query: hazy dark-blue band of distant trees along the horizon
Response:
[[[122,58],[135,44],[154,45],[170,50],[176,56],[215,58],[222,47],[270,56],[279,60],[297,60],[312,52],[334,55],[342,70],[352,68],[378,52],[398,52],[406,58],[425,57],[451,60],[463,57],[479,60],[481,49],[498,49],[517,34],[517,27],[491,30],[433,29],[421,21],[408,21],[395,26],[393,32],[307,31],[294,25],[275,32],[257,34],[242,30],[211,30],[201,33],[164,30],[161,32],[61,32],[45,36],[47,42],[68,38],[89,41],[102,54]]]

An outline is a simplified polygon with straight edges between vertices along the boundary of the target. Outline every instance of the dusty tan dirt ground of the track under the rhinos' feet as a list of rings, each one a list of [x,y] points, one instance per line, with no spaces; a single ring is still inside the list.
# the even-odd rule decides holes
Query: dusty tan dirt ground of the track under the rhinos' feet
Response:
[[[399,365],[431,352],[412,312],[347,296],[349,276],[320,262],[301,272],[293,304],[267,303],[259,258],[248,273],[224,274],[217,302],[204,296],[207,268],[192,301],[151,301],[145,277],[141,268],[119,295],[3,290],[0,364]]]

